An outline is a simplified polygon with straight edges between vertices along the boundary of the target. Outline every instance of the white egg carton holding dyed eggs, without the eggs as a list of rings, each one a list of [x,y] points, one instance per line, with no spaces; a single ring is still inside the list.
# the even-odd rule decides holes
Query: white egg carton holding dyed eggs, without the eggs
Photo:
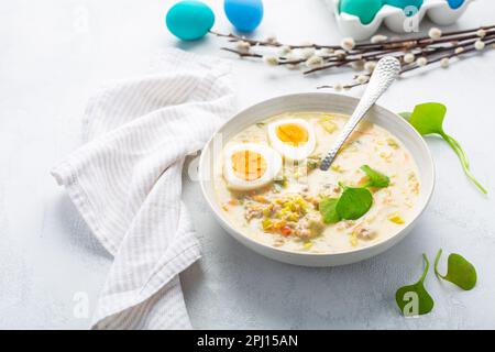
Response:
[[[396,33],[415,32],[426,14],[438,25],[452,24],[464,13],[472,1],[474,0],[464,0],[461,7],[452,9],[447,0],[425,0],[419,11],[411,16],[407,16],[403,9],[384,4],[371,23],[363,24],[353,14],[339,13],[340,0],[327,0],[333,9],[340,32],[356,41],[371,37],[382,23],[385,23],[391,31]]]

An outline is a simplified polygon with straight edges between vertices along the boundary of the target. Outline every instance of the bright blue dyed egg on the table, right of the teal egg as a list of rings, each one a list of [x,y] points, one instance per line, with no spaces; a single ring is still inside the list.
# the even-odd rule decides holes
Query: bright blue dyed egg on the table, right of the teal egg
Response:
[[[230,23],[241,32],[254,31],[263,19],[262,0],[226,0],[223,10]]]

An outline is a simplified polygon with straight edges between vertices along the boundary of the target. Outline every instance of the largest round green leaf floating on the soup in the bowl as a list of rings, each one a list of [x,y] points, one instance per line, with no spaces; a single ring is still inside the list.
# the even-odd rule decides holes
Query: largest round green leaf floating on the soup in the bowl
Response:
[[[337,213],[345,220],[356,220],[373,205],[373,196],[366,188],[345,187],[336,205]]]

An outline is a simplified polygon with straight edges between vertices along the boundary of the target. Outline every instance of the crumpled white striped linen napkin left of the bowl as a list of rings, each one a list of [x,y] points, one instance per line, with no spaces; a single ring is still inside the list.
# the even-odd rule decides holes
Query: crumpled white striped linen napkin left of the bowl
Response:
[[[178,274],[200,251],[182,168],[232,112],[233,94],[218,59],[167,50],[156,72],[96,94],[87,143],[52,170],[114,257],[94,329],[190,328]]]

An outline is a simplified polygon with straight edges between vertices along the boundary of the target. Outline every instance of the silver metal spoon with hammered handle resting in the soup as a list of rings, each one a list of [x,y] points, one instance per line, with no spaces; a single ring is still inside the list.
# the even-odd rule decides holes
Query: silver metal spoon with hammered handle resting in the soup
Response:
[[[327,154],[327,156],[321,160],[320,169],[326,172],[329,169],[337,153],[340,151],[344,142],[354,131],[355,127],[360,121],[366,116],[367,111],[373,107],[373,105],[378,100],[378,98],[391,87],[392,82],[397,78],[400,73],[400,62],[393,56],[383,57],[373,70],[373,75],[370,78],[366,90],[360,100],[360,103],[355,108],[352,117],[349,119],[344,129],[337,139],[336,144]]]

